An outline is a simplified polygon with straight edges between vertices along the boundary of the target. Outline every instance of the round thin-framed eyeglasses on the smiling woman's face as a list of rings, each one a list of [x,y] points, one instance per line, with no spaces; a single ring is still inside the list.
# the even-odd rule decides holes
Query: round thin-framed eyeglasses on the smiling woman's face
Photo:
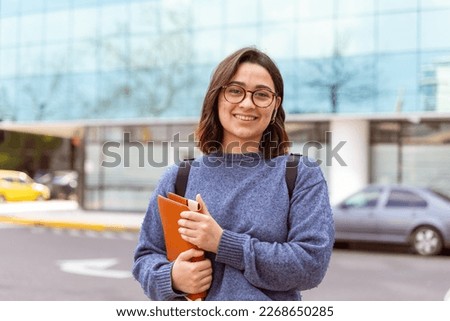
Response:
[[[251,91],[238,85],[226,85],[222,88],[224,90],[223,96],[229,103],[239,104],[245,99],[247,92],[249,92],[252,94],[252,102],[259,108],[269,107],[272,104],[273,99],[277,96],[276,93],[269,89],[257,89]]]

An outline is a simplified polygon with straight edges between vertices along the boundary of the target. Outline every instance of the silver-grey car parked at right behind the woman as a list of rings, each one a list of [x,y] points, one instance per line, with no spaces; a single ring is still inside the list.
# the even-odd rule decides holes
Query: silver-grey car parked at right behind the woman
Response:
[[[450,199],[426,188],[369,185],[333,213],[337,242],[409,244],[420,255],[450,247]]]

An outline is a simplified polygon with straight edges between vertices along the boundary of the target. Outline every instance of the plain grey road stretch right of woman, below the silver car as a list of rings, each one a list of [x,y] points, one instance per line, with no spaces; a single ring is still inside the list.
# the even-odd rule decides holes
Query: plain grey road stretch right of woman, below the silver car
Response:
[[[450,300],[450,255],[422,257],[404,247],[355,245],[334,249],[322,284],[306,301]]]

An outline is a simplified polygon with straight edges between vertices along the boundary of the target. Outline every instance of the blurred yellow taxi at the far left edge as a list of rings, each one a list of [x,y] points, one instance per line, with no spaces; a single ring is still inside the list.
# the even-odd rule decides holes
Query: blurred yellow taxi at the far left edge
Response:
[[[0,170],[0,203],[40,201],[50,198],[50,189],[36,183],[24,172]]]

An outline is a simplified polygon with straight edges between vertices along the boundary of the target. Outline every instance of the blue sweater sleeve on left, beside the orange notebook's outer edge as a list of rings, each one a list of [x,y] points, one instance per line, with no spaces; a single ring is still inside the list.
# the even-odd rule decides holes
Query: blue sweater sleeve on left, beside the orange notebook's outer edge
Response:
[[[177,168],[173,166],[165,172],[152,194],[134,254],[133,276],[141,284],[144,293],[154,301],[184,299],[183,294],[172,288],[173,262],[166,258],[164,232],[157,203],[159,194],[167,195],[167,192],[173,191]]]

